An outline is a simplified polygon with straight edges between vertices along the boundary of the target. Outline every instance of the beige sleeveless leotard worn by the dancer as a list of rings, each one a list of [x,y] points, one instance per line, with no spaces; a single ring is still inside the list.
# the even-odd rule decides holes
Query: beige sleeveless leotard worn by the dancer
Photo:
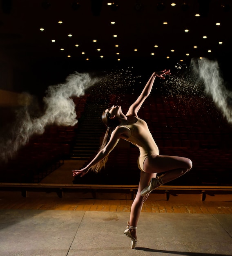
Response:
[[[151,132],[148,129],[147,123],[138,117],[136,118],[138,119],[136,123],[126,125],[126,127],[131,131],[131,136],[125,140],[139,148],[140,155],[138,157],[138,168],[141,171],[144,171],[143,163],[145,159],[149,155],[158,155],[159,150]]]

